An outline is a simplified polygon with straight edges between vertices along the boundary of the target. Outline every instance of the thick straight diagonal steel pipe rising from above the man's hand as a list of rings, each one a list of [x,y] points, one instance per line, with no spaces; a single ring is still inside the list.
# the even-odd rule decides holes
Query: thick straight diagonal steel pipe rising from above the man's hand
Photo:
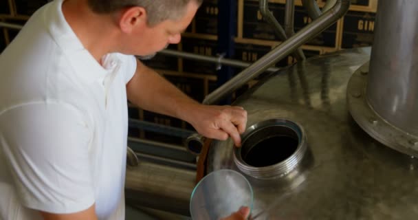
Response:
[[[259,61],[256,61],[253,65],[244,69],[243,72],[239,73],[230,81],[209,94],[205,100],[203,100],[203,104],[214,104],[235,89],[238,89],[247,83],[252,78],[259,76],[259,74],[263,73],[267,67],[270,67],[270,65],[280,61],[290,52],[300,47],[300,45],[309,41],[311,37],[316,36],[316,34],[319,34],[335,23],[347,12],[347,10],[349,10],[349,6],[349,0],[338,0],[336,5],[334,5],[331,10],[322,14],[321,17],[309,23],[305,28],[300,30],[291,38],[287,39],[287,41],[278,45],[278,47],[274,48],[274,50],[268,54],[265,54],[265,56],[260,58]]]

